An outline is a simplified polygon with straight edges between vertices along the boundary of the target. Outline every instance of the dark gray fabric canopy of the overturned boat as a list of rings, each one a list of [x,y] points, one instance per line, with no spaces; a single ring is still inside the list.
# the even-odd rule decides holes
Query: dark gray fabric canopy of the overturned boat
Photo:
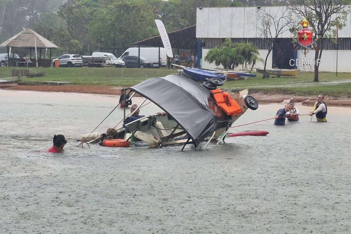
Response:
[[[222,115],[219,118],[212,112],[208,103],[216,104],[211,92],[184,76],[172,74],[163,78],[151,78],[127,89],[163,109],[184,129],[195,147],[210,132],[231,125],[230,116]]]

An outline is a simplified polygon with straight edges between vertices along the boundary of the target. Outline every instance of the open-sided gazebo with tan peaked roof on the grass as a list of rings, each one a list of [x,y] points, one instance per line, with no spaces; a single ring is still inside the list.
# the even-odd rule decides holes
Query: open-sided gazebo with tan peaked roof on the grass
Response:
[[[49,65],[51,66],[51,49],[58,49],[59,47],[55,44],[53,44],[51,41],[47,40],[40,34],[34,32],[30,28],[26,28],[24,31],[14,35],[12,38],[6,40],[2,44],[0,44],[0,47],[7,47],[7,54],[8,54],[8,63],[10,63],[10,60],[12,60],[12,65],[15,66],[15,59],[14,59],[14,52],[12,50],[12,58],[9,56],[9,51],[10,47],[11,48],[25,48],[29,49],[31,51],[31,59],[32,59],[32,49],[37,51],[39,49],[39,59],[40,59],[40,65]],[[42,62],[41,59],[41,49],[50,49],[50,59],[49,61],[45,61],[48,59],[44,59],[44,63]],[[37,54],[35,54],[37,57]],[[35,59],[37,60],[37,58]],[[48,63],[48,64],[47,64]]]

